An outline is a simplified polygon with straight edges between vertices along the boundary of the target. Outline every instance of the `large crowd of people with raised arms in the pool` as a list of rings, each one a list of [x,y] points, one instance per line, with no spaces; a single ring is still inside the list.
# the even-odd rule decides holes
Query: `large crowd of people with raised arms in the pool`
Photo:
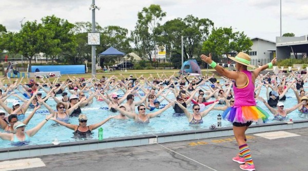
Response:
[[[28,141],[29,137],[34,136],[49,120],[72,129],[75,134],[91,133],[110,119],[133,119],[138,124],[146,124],[171,106],[175,117],[186,116],[189,124],[202,124],[202,118],[211,110],[226,111],[234,105],[233,80],[222,77],[224,83],[220,84],[214,74],[211,77],[192,76],[189,73],[177,76],[175,74],[169,77],[165,73],[157,74],[157,77],[150,74],[149,78],[136,74],[125,78],[120,74],[119,77],[112,75],[110,78],[103,76],[100,79],[88,80],[73,77],[62,83],[59,83],[58,79],[50,82],[47,78],[30,80],[27,84],[22,84],[23,78],[12,83],[8,78],[7,85],[0,83],[0,105],[4,110],[0,112],[0,138],[13,142]],[[287,114],[296,109],[308,114],[308,98],[304,91],[307,75],[299,72],[291,72],[287,77],[260,74],[256,79],[254,96],[265,104],[276,120],[286,120]],[[259,97],[262,86],[266,88],[266,100]],[[283,102],[288,101],[285,93],[290,88],[294,91],[298,104],[285,109]],[[46,94],[44,97],[42,91]],[[116,92],[119,91],[123,91],[123,97],[118,96]],[[138,93],[140,91],[143,91],[143,97]],[[16,92],[20,92],[22,96]],[[61,94],[62,98],[56,97],[56,94]],[[174,98],[168,98],[168,94],[174,94]],[[10,96],[19,101],[7,103]],[[139,101],[134,100],[136,96]],[[48,102],[51,100],[48,99],[56,102],[56,108],[50,107]],[[168,104],[161,107],[160,103],[164,100]],[[88,119],[82,113],[82,108],[91,105],[93,101],[105,103],[115,115],[87,125]],[[50,115],[35,127],[25,130],[35,111],[41,106],[45,106]],[[25,116],[29,108],[32,111]],[[79,124],[70,123],[71,117],[78,117]]]

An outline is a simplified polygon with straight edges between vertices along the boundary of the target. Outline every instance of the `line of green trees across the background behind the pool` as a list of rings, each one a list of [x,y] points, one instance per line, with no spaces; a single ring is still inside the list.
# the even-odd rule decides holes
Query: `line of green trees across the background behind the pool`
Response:
[[[184,59],[200,60],[201,53],[213,53],[221,58],[229,52],[249,51],[252,41],[244,32],[234,31],[232,27],[217,28],[209,18],[187,15],[162,23],[167,13],[160,5],[144,7],[137,13],[134,30],[120,26],[101,27],[96,23],[95,30],[101,34],[101,44],[97,52],[110,46],[128,54],[137,53],[142,59],[152,62],[152,50],[165,46],[171,54],[174,67],[181,66],[182,37]],[[20,54],[29,60],[38,53],[47,59],[58,59],[66,64],[81,64],[91,61],[91,47],[87,45],[87,33],[91,32],[90,22],[70,23],[55,15],[41,18],[40,22],[27,21],[18,32],[7,31],[0,24],[0,53]],[[169,55],[168,55],[169,57]],[[104,62],[113,64],[117,58],[105,58]],[[133,60],[130,58],[129,60]]]

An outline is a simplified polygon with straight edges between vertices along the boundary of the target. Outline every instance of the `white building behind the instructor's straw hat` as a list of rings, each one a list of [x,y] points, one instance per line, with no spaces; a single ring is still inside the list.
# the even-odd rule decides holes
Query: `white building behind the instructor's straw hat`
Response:
[[[253,46],[251,47],[252,50],[249,51],[249,55],[252,59],[252,65],[257,65],[258,61],[266,64],[274,58],[276,51],[275,42],[259,37],[254,37],[251,40],[253,41]]]

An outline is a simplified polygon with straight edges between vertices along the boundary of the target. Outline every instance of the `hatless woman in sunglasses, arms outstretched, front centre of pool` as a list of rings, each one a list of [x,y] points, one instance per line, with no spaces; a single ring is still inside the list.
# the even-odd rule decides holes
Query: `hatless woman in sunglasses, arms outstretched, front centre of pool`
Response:
[[[123,110],[119,106],[112,105],[112,107],[117,109],[118,111],[120,111],[123,115],[127,116],[128,118],[133,119],[134,122],[136,122],[138,124],[148,124],[148,123],[150,123],[151,118],[157,117],[162,112],[164,112],[167,108],[172,106],[172,104],[173,103],[169,103],[164,108],[162,108],[162,109],[160,109],[156,112],[152,112],[152,113],[148,113],[148,114],[145,113],[146,107],[144,105],[139,105],[137,107],[139,114],[137,114],[135,112],[128,112],[126,110]]]

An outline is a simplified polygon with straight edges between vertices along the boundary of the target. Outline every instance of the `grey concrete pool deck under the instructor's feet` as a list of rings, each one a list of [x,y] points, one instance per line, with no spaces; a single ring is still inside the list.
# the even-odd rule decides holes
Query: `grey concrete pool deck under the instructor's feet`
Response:
[[[193,134],[195,139],[172,142],[163,142],[163,140],[169,139],[166,137],[183,136],[185,134],[188,139],[189,135],[192,134],[182,132],[182,135],[157,135],[157,141],[153,140],[153,137],[145,136],[147,143],[144,139],[139,139],[140,143],[144,141],[145,144],[129,147],[117,147],[115,144],[118,141],[115,140],[109,141],[109,143],[115,145],[114,147],[106,145],[107,148],[105,149],[84,150],[79,145],[79,150],[76,150],[76,147],[72,148],[72,146],[67,145],[62,148],[72,148],[76,151],[65,154],[61,151],[59,153],[56,150],[57,147],[49,147],[42,149],[53,150],[53,154],[41,154],[36,155],[36,157],[29,155],[23,158],[40,158],[46,165],[26,170],[240,170],[239,164],[232,161],[232,157],[238,152],[234,137],[232,134],[218,135],[221,134],[218,132],[227,134],[223,132],[231,131],[229,128],[199,133],[196,131]],[[256,133],[248,134],[247,141],[249,147],[251,147],[257,170],[307,170],[307,122],[253,125],[248,129],[248,132]],[[261,132],[268,132],[269,134],[259,135],[263,136],[259,137],[257,134]],[[199,134],[201,134],[201,137],[207,135],[207,138],[196,138],[196,135]],[[215,137],[211,138],[211,135]],[[26,151],[31,154],[31,149],[18,152],[28,154]],[[3,156],[4,153],[1,153],[1,157]],[[22,158],[22,156],[19,158]],[[1,162],[0,165],[5,166]],[[9,167],[5,170],[16,169],[12,167],[13,165],[7,165]]]

